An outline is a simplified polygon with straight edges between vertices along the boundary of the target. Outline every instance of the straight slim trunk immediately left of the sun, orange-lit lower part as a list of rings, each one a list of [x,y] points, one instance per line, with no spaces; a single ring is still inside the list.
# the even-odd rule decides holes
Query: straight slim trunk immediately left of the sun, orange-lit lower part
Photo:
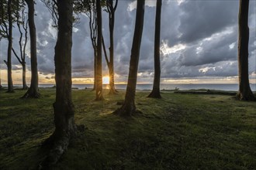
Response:
[[[96,59],[96,99],[103,100],[102,93],[102,7],[100,0],[96,0],[97,8],[97,59]]]

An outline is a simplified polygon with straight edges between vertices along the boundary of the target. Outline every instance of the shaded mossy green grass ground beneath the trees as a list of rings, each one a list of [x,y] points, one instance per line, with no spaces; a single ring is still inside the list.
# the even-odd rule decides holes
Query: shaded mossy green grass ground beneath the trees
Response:
[[[71,141],[54,169],[256,169],[256,103],[229,95],[138,91],[130,118],[113,115],[124,98],[73,90],[75,123],[85,131]],[[33,169],[42,142],[54,131],[54,89],[40,99],[0,91],[0,169]]]

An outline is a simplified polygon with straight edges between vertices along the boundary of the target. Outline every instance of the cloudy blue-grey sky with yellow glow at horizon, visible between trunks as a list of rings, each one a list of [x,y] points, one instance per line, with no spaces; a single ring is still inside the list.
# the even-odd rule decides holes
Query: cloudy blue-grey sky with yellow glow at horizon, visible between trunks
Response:
[[[115,80],[126,83],[130,49],[136,15],[133,0],[119,0],[114,30]],[[146,0],[144,31],[140,48],[137,83],[153,83],[154,79],[154,0]],[[40,83],[54,83],[54,46],[57,30],[42,2],[36,2],[37,58]],[[237,16],[238,0],[163,0],[161,14],[161,83],[237,83]],[[93,49],[88,18],[79,15],[73,29],[73,83],[93,83]],[[102,12],[103,35],[109,47],[108,14]],[[256,2],[249,9],[249,75],[256,83]],[[19,33],[14,30],[13,42],[17,50]],[[26,48],[27,82],[30,80],[29,43]],[[1,78],[7,82],[7,41],[0,44]],[[102,74],[108,68],[102,56]],[[13,83],[22,83],[22,70],[12,57]]]

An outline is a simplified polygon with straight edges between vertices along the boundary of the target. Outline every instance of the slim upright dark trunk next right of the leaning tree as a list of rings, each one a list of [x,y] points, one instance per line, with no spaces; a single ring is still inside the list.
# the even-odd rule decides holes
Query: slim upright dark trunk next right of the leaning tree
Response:
[[[161,5],[162,5],[162,0],[157,0],[157,11],[156,11],[155,32],[154,32],[154,84],[153,84],[153,90],[151,91],[150,95],[148,96],[148,97],[152,97],[152,98],[161,98],[161,94],[160,94]]]

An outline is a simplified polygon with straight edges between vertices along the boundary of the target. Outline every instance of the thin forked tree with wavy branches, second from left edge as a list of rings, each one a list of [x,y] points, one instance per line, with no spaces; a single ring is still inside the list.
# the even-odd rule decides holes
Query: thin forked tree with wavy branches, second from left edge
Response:
[[[27,34],[28,34],[28,20],[25,17],[25,4],[22,2],[21,4],[21,15],[19,14],[20,12],[18,11],[16,13],[16,25],[18,26],[19,29],[19,55],[16,53],[16,50],[12,48],[12,52],[15,54],[16,58],[18,59],[19,63],[22,65],[22,89],[26,90],[28,89],[26,85],[26,43],[27,43]],[[22,29],[25,31],[24,35],[24,44],[22,44],[22,39],[23,39],[23,32]]]

